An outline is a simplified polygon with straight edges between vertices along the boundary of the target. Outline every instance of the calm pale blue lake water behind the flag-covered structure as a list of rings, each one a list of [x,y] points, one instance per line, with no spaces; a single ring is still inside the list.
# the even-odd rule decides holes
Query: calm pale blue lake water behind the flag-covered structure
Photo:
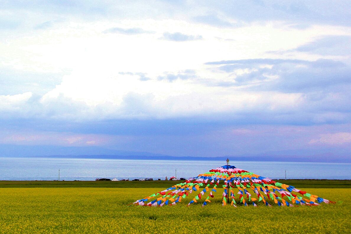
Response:
[[[190,178],[224,161],[157,161],[68,158],[0,158],[0,180],[95,180],[95,178]],[[351,163],[231,161],[271,179],[351,179]]]

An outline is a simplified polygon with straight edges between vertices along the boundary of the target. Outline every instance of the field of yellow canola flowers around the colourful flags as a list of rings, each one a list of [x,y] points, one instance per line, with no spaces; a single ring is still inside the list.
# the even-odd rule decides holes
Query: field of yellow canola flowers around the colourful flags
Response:
[[[307,207],[127,206],[164,188],[0,188],[0,233],[351,233],[350,188],[305,188]],[[189,198],[190,201],[192,198]]]

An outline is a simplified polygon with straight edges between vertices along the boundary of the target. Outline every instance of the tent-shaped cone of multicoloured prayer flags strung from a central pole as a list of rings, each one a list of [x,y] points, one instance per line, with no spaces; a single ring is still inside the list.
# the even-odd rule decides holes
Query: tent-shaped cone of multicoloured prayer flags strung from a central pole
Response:
[[[204,207],[211,202],[221,180],[224,181],[223,206],[230,203],[230,205],[236,207],[237,202],[244,206],[257,206],[261,202],[266,206],[276,204],[290,207],[293,205],[318,206],[321,202],[335,203],[293,186],[230,166],[228,163],[229,160],[227,159],[227,165],[190,178],[183,183],[178,183],[163,191],[137,200],[133,204],[139,206],[176,205],[182,199],[187,198],[189,194],[195,192],[198,194],[190,200],[188,206],[199,202],[201,198],[205,198],[202,199],[204,200],[202,204]],[[212,188],[210,188],[211,185],[213,185]],[[205,193],[208,191],[210,193],[206,196]]]

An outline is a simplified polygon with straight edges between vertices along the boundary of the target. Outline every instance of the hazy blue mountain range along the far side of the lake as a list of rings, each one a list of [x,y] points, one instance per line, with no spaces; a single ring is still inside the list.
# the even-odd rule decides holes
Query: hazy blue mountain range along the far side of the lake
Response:
[[[50,158],[91,158],[91,159],[132,159],[132,160],[216,160],[225,161],[290,161],[290,162],[351,162],[350,152],[344,150],[320,149],[296,151],[275,151],[261,154],[226,155],[220,157],[169,156],[148,152],[119,151],[98,146],[60,147],[0,145],[0,157],[50,157]]]

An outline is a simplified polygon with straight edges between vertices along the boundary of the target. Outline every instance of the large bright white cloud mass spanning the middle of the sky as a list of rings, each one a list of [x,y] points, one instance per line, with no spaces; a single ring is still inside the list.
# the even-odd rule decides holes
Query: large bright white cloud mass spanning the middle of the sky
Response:
[[[18,33],[2,41],[0,61],[3,66],[22,71],[69,74],[42,96],[39,107],[32,106],[31,113],[45,117],[169,118],[258,110],[294,112],[305,102],[301,93],[259,91],[254,89],[259,80],[245,88],[213,87],[208,84],[235,82],[236,76],[252,73],[254,69],[237,69],[228,74],[204,65],[209,61],[262,58],[268,56],[266,51],[296,48],[316,36],[350,33],[347,27],[314,25],[287,30],[286,25],[284,21],[267,21],[218,28],[181,18],[92,22],[72,18],[69,22],[56,21],[54,26],[33,34]],[[133,29],[133,33],[104,33],[111,28]],[[202,40],[178,43],[159,40],[165,32],[201,35]],[[325,57],[294,56],[307,60]],[[272,65],[260,68],[270,69]],[[185,70],[196,71],[196,77],[173,82],[158,79]],[[140,80],[141,73],[148,80]],[[279,79],[277,75],[264,76],[265,82]],[[2,106],[17,105],[17,111],[23,112],[29,108],[26,104],[29,94],[21,94],[23,100],[17,102],[3,98],[6,101]]]

